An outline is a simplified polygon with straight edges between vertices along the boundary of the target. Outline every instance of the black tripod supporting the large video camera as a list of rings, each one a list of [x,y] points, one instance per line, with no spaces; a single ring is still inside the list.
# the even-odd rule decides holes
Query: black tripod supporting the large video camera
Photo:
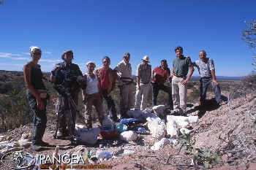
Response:
[[[69,93],[69,90],[67,90],[65,94],[66,95],[62,93],[61,96],[58,98],[59,103],[57,104],[57,107],[56,107],[57,123],[56,123],[56,131],[55,131],[55,134],[53,135],[53,138],[58,139],[57,131],[59,128],[59,122],[61,120],[61,117],[65,116],[67,131],[69,134],[69,141],[74,143],[76,140],[76,136],[73,134],[73,129],[72,129],[72,125],[73,125],[72,108],[74,108],[75,111],[78,112],[78,114],[80,114],[80,112],[78,111],[78,107],[75,104],[75,101],[72,99],[72,96]]]

